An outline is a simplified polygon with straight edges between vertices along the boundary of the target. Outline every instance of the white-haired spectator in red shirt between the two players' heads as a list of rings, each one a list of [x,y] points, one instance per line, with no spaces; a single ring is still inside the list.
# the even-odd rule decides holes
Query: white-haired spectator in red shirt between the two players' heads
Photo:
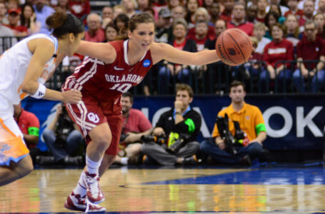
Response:
[[[105,32],[101,29],[101,16],[91,13],[87,16],[88,31],[85,32],[85,41],[103,42]]]

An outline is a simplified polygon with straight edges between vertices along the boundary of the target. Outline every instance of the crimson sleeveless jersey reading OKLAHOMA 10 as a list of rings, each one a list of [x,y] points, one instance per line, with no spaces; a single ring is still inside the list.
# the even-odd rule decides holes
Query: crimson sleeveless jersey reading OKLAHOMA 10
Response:
[[[146,51],[134,66],[130,66],[127,58],[129,40],[111,41],[109,44],[116,50],[113,63],[86,58],[66,79],[62,88],[73,88],[105,102],[119,98],[121,93],[138,85],[152,66],[151,52]]]

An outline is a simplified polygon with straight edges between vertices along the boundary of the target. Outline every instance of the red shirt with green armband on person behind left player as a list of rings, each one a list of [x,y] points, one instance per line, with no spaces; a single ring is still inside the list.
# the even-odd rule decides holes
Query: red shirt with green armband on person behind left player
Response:
[[[39,136],[39,118],[37,118],[34,113],[25,111],[21,108],[21,114],[19,118],[17,118],[16,123],[23,134]],[[36,145],[28,144],[27,147],[34,148]]]

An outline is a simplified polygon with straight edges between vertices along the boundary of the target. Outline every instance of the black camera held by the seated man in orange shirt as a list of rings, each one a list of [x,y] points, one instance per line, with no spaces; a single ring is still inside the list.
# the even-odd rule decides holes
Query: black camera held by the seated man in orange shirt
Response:
[[[232,136],[229,131],[228,124],[228,115],[225,114],[224,117],[217,116],[216,117],[216,127],[219,130],[220,137],[224,139],[224,143],[226,144],[225,151],[231,153],[232,156],[236,155],[237,151],[234,148],[235,138]]]

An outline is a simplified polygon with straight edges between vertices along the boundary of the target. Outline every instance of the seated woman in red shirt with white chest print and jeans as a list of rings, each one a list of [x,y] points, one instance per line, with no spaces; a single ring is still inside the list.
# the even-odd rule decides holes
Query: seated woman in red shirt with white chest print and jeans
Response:
[[[271,26],[271,36],[273,41],[264,48],[263,59],[267,63],[266,70],[261,73],[261,86],[269,86],[269,79],[275,79],[278,83],[278,91],[284,90],[284,81],[286,86],[292,76],[290,63],[279,63],[279,61],[291,61],[294,59],[294,46],[291,41],[284,39],[284,29],[277,23]]]

